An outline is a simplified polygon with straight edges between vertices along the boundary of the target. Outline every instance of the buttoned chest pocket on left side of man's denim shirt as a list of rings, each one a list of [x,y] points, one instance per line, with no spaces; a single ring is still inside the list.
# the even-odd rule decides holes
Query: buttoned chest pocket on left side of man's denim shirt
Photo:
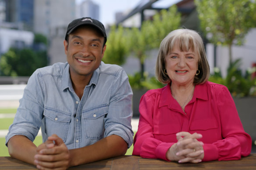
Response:
[[[45,117],[45,132],[47,136],[57,134],[63,142],[66,142],[71,115],[49,108],[45,109],[43,115]]]

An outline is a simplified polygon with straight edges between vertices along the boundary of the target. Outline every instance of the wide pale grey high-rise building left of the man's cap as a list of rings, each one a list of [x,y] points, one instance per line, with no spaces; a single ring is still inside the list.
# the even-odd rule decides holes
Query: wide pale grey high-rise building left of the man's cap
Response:
[[[48,38],[50,65],[67,61],[63,41],[75,17],[75,0],[35,0],[34,32]]]

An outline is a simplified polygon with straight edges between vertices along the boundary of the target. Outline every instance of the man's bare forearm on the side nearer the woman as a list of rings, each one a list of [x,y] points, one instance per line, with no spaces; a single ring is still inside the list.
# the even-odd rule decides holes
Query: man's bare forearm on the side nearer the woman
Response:
[[[118,135],[110,135],[90,146],[71,149],[71,167],[85,163],[121,156],[128,149],[127,143]]]

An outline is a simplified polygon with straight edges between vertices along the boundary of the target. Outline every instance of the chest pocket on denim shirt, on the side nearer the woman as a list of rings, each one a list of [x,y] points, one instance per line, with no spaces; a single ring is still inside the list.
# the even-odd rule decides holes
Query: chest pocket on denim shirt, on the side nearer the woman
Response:
[[[87,139],[102,139],[104,137],[104,118],[107,113],[107,104],[82,112]]]

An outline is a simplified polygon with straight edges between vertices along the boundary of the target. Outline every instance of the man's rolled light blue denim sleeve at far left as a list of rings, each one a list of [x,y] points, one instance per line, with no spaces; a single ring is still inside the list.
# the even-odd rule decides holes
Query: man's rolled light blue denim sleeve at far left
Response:
[[[28,80],[14,122],[5,137],[6,145],[14,135],[24,135],[34,141],[39,132],[43,117],[43,87],[39,75],[39,70],[36,70]]]

